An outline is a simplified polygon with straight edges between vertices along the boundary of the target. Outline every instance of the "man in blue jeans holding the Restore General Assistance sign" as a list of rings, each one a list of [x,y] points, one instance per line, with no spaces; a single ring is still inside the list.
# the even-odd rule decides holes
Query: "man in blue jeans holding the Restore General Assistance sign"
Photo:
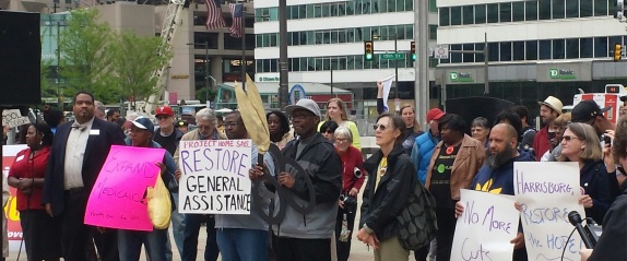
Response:
[[[228,137],[229,140],[250,142],[250,140],[244,140],[248,138],[248,132],[239,111],[228,114],[223,124],[226,137]],[[250,164],[252,166],[255,166],[258,161],[257,151],[257,147],[252,145],[250,156]],[[263,162],[270,173],[273,174],[274,163],[270,153],[264,154]],[[262,202],[255,202],[252,201],[253,198],[250,197],[250,205],[260,204],[261,210],[268,212],[272,193],[269,192],[268,195],[270,197],[263,199]],[[217,230],[217,246],[220,247],[223,261],[268,260],[268,224],[256,211],[251,211],[248,215],[215,215],[215,228]]]

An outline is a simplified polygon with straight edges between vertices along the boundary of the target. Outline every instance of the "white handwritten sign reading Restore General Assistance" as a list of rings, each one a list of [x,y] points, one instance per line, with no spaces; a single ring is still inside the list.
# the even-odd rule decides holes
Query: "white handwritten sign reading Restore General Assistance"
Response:
[[[250,140],[181,141],[179,212],[249,214]]]

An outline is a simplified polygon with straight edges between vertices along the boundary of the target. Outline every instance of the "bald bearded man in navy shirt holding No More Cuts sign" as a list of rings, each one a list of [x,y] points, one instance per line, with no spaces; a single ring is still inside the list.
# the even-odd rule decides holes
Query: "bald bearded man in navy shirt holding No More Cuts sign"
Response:
[[[471,189],[495,194],[513,194],[513,163],[534,162],[528,153],[519,153],[516,149],[518,133],[508,123],[498,123],[489,132],[487,158],[471,185]],[[459,202],[458,202],[459,203]],[[461,206],[461,209],[460,209]],[[513,206],[512,206],[513,207]],[[457,204],[456,212],[463,212],[463,205]],[[527,260],[524,236],[520,229],[513,244],[513,261]]]

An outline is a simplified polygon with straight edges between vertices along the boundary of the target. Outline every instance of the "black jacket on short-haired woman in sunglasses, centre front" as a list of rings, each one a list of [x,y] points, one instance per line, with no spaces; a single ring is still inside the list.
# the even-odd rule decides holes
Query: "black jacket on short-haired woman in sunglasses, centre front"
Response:
[[[417,185],[414,164],[399,145],[388,155],[388,169],[375,191],[377,175],[379,175],[377,169],[382,157],[383,154],[379,150],[363,165],[368,171],[368,183],[364,191],[359,221],[359,227],[364,224],[368,225],[375,230],[379,240],[397,236],[397,216],[407,204],[413,186]]]

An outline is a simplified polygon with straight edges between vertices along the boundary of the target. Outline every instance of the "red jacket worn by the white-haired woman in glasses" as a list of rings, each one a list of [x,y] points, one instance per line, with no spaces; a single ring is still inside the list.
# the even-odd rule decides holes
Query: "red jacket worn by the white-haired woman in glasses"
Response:
[[[340,153],[340,158],[342,158],[342,193],[347,193],[351,188],[362,189],[366,175],[362,168],[362,163],[364,158],[362,157],[362,152],[354,146],[348,146],[345,153]],[[355,167],[362,170],[362,177],[355,178]]]

